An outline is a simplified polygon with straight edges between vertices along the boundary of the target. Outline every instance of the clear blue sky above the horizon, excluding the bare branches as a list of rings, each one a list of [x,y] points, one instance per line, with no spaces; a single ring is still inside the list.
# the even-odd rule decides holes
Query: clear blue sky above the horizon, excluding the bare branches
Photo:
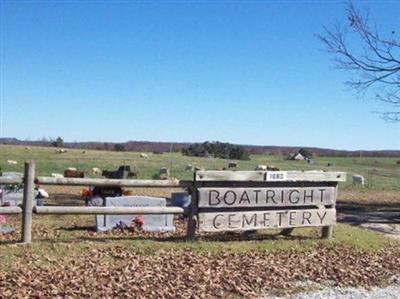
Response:
[[[399,2],[356,2],[399,25]],[[342,1],[2,1],[1,136],[400,149],[315,38]],[[392,28],[392,27],[390,27]]]

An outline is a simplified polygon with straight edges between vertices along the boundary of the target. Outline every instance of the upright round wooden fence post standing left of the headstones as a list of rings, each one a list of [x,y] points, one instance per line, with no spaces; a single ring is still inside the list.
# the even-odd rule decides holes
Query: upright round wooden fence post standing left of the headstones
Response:
[[[32,207],[34,197],[35,162],[25,162],[24,171],[24,198],[22,207],[22,243],[31,243],[32,240]]]

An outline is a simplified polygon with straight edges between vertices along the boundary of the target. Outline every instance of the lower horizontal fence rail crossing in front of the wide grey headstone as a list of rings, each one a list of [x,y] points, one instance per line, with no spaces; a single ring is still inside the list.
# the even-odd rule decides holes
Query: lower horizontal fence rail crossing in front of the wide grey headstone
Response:
[[[79,214],[79,215],[131,215],[131,214],[183,214],[180,207],[68,207],[36,206],[36,214]]]

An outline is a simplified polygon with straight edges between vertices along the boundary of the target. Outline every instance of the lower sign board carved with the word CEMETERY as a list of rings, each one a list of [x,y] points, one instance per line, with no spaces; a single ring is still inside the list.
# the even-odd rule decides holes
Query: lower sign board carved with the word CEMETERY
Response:
[[[336,223],[336,209],[200,213],[199,231],[327,226]]]

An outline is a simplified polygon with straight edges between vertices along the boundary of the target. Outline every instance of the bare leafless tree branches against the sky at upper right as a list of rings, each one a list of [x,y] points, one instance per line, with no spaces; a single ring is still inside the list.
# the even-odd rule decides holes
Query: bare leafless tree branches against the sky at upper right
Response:
[[[384,119],[400,121],[400,40],[394,30],[381,35],[369,14],[352,3],[346,12],[347,26],[324,27],[317,37],[333,55],[335,67],[350,71],[346,85],[363,95],[372,93],[386,104]]]

